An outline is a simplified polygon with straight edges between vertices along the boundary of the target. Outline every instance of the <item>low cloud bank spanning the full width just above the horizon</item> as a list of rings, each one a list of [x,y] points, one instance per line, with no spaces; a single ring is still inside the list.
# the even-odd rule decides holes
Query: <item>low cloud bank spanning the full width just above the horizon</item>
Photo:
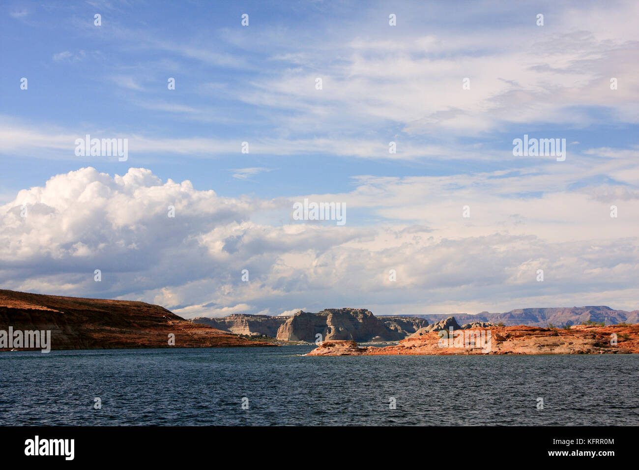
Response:
[[[299,305],[495,311],[592,304],[602,292],[616,293],[606,301],[613,307],[636,308],[636,198],[622,194],[624,217],[612,219],[596,201],[601,192],[562,191],[548,175],[528,184],[548,194],[513,198],[526,189],[518,175],[361,177],[353,191],[324,196],[376,212],[379,224],[272,225],[254,219],[290,210],[291,201],[224,198],[142,168],[122,176],[82,168],[0,207],[0,281],[148,301],[187,318],[287,314]]]

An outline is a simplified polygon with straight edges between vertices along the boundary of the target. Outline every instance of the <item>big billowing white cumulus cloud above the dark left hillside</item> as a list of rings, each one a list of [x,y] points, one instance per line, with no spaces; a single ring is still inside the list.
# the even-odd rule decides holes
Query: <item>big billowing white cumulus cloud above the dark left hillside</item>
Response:
[[[147,169],[111,177],[82,168],[20,191],[0,208],[2,277],[17,270],[27,288],[43,277],[86,292],[144,290],[171,276],[188,281],[215,269],[196,262],[207,250],[195,237],[245,221],[261,204],[195,191],[189,181],[161,182]],[[93,285],[85,273],[95,269],[104,274]]]

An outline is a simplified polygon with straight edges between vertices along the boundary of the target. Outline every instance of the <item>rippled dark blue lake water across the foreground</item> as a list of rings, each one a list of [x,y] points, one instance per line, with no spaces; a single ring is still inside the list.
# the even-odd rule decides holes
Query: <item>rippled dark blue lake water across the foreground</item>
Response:
[[[2,352],[0,425],[639,425],[636,354],[311,349]]]

